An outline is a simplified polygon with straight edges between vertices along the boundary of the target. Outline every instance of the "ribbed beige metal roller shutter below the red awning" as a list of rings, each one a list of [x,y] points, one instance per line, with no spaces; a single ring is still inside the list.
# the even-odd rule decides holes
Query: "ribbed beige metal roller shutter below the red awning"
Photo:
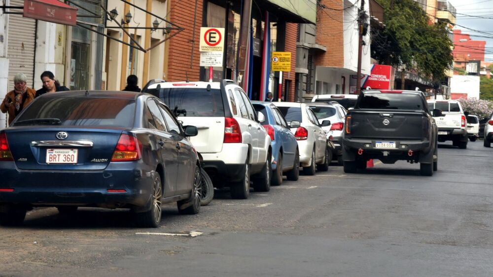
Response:
[[[24,0],[10,0],[11,6],[24,6]],[[21,9],[10,9],[21,12]],[[36,42],[36,20],[20,14],[9,14],[7,31],[8,91],[14,89],[14,76],[24,73],[28,77],[27,85],[33,88],[34,59]],[[35,88],[33,88],[35,89]]]

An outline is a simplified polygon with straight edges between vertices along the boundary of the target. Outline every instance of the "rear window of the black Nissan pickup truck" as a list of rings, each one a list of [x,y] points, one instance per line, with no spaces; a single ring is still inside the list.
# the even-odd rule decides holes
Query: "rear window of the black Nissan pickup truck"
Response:
[[[360,109],[423,110],[423,101],[418,94],[365,93],[359,102]]]

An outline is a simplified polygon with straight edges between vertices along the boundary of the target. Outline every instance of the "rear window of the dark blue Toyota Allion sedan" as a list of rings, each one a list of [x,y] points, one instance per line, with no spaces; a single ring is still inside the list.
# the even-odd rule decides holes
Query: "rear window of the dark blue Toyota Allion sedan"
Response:
[[[100,97],[40,97],[15,119],[12,126],[118,126],[132,127],[135,100]]]

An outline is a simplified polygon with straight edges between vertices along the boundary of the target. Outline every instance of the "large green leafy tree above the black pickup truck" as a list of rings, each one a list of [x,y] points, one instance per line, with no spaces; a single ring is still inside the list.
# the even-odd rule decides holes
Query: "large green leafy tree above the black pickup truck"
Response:
[[[386,27],[383,31],[374,30],[372,56],[383,64],[416,71],[430,80],[444,79],[453,63],[453,42],[446,25],[429,25],[426,12],[413,0],[379,3],[384,7]]]

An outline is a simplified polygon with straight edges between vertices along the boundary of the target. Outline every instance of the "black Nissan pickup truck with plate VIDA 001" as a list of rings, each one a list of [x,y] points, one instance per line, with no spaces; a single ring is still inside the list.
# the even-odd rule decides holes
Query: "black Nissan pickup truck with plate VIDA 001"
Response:
[[[419,91],[363,91],[346,116],[344,172],[365,169],[369,159],[383,163],[420,163],[421,175],[438,167],[437,126],[440,110],[428,110]]]

